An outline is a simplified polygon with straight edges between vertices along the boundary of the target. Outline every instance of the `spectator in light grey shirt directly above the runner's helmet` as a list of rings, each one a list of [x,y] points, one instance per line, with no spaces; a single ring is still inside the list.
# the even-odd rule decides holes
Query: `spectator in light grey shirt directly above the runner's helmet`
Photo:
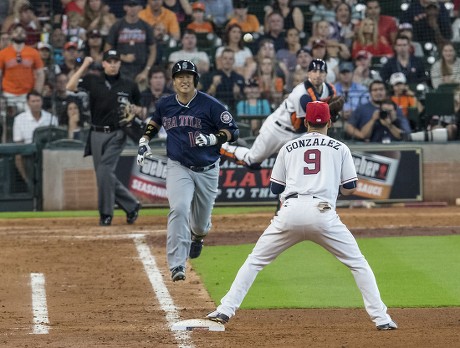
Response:
[[[199,74],[209,71],[210,61],[206,52],[199,51],[196,47],[196,34],[193,30],[185,29],[182,39],[182,49],[169,55],[168,62],[174,64],[181,59],[191,60],[195,63]]]

